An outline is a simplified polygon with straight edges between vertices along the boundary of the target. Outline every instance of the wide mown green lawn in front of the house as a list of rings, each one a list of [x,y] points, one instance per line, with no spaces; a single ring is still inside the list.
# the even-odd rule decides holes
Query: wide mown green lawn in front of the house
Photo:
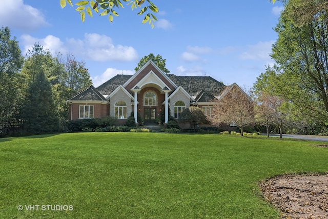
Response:
[[[163,133],[4,138],[0,218],[279,218],[257,183],[328,171],[328,148],[311,144]]]

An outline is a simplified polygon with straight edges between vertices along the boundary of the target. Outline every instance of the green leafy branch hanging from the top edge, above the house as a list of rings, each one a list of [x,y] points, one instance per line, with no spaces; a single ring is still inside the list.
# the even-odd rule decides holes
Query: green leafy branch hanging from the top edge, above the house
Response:
[[[60,6],[61,8],[66,7],[66,2],[72,6],[71,0],[60,0]],[[108,15],[109,21],[113,22],[113,15],[118,16],[118,13],[116,11],[116,8],[119,10],[120,8],[124,8],[122,5],[122,2],[127,2],[127,5],[131,6],[131,9],[134,10],[137,7],[141,8],[141,5],[145,3],[145,0],[137,1],[137,0],[93,0],[91,1],[79,1],[75,5],[78,6],[75,10],[79,12],[81,16],[82,22],[85,21],[86,18],[86,12],[87,14],[92,17],[93,11],[96,13],[99,13],[100,16],[106,16]],[[157,13],[158,8],[155,6],[150,0],[147,0],[148,4],[147,6],[141,8],[140,12],[137,13],[138,15],[144,14],[147,9],[150,9],[152,12]],[[154,22],[157,21],[156,16],[153,13],[148,13],[145,15],[144,20],[142,21],[142,24],[149,23],[152,28],[154,28]]]

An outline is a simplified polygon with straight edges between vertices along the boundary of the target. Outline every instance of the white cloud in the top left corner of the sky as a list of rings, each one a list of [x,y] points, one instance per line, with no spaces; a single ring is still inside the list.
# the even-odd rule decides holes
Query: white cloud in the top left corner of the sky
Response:
[[[2,26],[35,31],[40,27],[49,26],[42,12],[29,5],[23,0],[1,1],[0,21]]]

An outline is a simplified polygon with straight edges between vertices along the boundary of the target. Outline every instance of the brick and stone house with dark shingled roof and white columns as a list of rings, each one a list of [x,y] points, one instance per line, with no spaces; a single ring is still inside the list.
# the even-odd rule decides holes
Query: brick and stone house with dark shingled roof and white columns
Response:
[[[73,96],[68,100],[69,119],[110,115],[124,125],[132,114],[138,124],[139,113],[145,124],[155,124],[163,114],[167,124],[169,115],[178,119],[190,106],[198,106],[213,117],[215,99],[229,87],[209,76],[165,74],[149,61],[133,75],[116,75],[97,88],[90,86]]]

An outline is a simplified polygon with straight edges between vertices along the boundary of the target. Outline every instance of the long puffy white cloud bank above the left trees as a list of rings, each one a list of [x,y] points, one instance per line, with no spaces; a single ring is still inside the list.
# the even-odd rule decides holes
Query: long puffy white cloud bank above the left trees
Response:
[[[114,45],[109,36],[96,33],[86,33],[83,39],[70,38],[66,39],[65,42],[53,35],[35,38],[24,34],[21,38],[23,39],[23,54],[31,50],[35,43],[39,43],[45,49],[49,49],[51,53],[61,52],[65,54],[70,52],[81,56],[83,59],[98,62],[129,62],[138,59],[138,53],[133,47]]]

